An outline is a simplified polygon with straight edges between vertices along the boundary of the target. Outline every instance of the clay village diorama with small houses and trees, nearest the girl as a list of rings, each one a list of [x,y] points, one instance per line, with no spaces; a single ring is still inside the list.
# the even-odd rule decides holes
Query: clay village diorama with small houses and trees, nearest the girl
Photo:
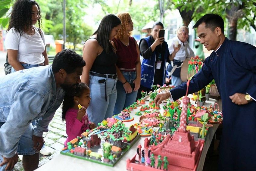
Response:
[[[140,135],[134,126],[125,127],[120,121],[111,127],[108,127],[106,122],[104,124],[106,125],[103,126],[101,123],[95,129],[87,130],[81,136],[68,142],[68,146],[62,149],[61,154],[114,166]]]

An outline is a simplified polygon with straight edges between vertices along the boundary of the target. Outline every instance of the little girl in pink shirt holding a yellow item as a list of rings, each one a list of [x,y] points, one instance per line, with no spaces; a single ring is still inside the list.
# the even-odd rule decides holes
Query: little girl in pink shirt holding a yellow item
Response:
[[[79,83],[71,92],[66,92],[62,104],[62,121],[66,120],[67,139],[64,142],[73,140],[77,136],[81,136],[87,129],[96,127],[95,123],[91,123],[86,113],[86,108],[90,104],[90,89],[85,83]],[[83,106],[78,108],[78,104]]]

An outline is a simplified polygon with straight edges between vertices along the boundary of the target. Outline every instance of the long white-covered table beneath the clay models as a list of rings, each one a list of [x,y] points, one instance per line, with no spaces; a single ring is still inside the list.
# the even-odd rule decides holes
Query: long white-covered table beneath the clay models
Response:
[[[192,104],[195,104],[194,101],[191,101]],[[210,99],[209,101],[206,101],[206,104],[204,104],[204,106],[209,106],[210,104],[214,105],[214,103],[216,102],[215,99]],[[146,104],[148,104],[149,102],[146,101]],[[162,108],[163,104],[160,104],[160,112],[163,113],[163,108]],[[136,111],[139,110],[140,107],[138,107],[137,109],[133,110],[131,112],[131,116],[134,117],[134,120],[131,122],[125,122],[126,126],[130,126],[131,124],[134,123],[139,123],[139,117],[140,116],[136,116],[134,115],[134,113]],[[211,145],[211,141],[214,137],[214,134],[218,128],[219,124],[214,124],[213,127],[210,127],[209,131],[208,131],[208,135],[207,138],[205,140],[204,143],[204,148],[198,163],[198,167],[197,167],[197,171],[201,171],[203,170],[203,166],[204,166],[204,160],[205,160],[205,156],[207,154],[207,151]],[[137,141],[132,147],[131,149],[118,161],[118,163],[114,166],[114,167],[110,167],[110,166],[105,166],[105,165],[101,165],[98,163],[93,163],[87,160],[82,160],[82,159],[77,159],[75,157],[70,157],[70,156],[66,156],[63,154],[58,154],[56,157],[52,158],[50,161],[48,161],[47,163],[45,163],[44,165],[40,166],[38,169],[36,169],[37,171],[45,171],[45,170],[62,170],[62,171],[70,171],[70,170],[75,170],[75,169],[84,169],[84,170],[91,170],[91,171],[105,171],[105,170],[110,170],[110,171],[122,171],[122,170],[126,170],[126,160],[128,158],[132,158],[135,154],[136,154],[136,150],[137,150],[137,146],[139,144],[142,145],[142,148],[144,148],[144,139],[145,137],[141,137],[139,139],[139,141]]]

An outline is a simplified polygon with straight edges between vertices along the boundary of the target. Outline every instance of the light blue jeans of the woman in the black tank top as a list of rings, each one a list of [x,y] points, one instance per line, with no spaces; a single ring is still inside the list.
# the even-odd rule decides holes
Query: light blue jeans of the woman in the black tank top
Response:
[[[99,83],[99,80],[104,82]],[[97,125],[104,119],[112,117],[117,99],[117,78],[112,79],[90,75],[89,82],[91,103],[86,112],[89,120]]]

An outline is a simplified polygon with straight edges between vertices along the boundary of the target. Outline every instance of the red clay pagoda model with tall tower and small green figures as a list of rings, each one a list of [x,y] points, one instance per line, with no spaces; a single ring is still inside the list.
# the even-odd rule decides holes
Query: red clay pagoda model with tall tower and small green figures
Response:
[[[189,86],[189,81],[187,87]],[[187,88],[188,90],[188,88]],[[180,115],[180,127],[171,134],[153,133],[151,138],[145,138],[143,155],[140,150],[131,159],[126,160],[126,169],[134,171],[155,169],[166,170],[196,170],[201,157],[204,140],[195,141],[194,136],[187,131],[187,104],[189,98],[183,97],[183,107]],[[208,122],[208,113],[201,117],[203,125]],[[170,121],[168,122],[170,124]],[[162,129],[164,126],[160,126]],[[147,162],[145,162],[147,161]]]

